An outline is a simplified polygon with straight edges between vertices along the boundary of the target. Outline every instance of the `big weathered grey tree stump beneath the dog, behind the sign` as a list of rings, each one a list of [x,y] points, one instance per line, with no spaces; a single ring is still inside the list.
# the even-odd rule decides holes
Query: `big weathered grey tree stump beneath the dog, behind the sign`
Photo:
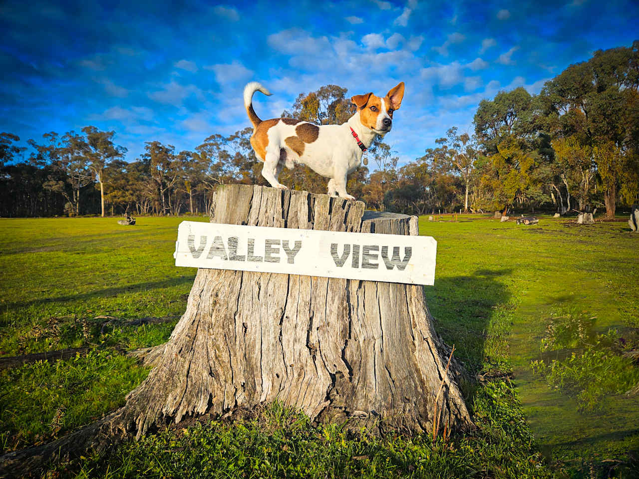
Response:
[[[220,185],[210,220],[417,235],[417,217],[364,215],[363,202],[265,186]],[[92,444],[275,400],[355,430],[465,429],[472,422],[459,382],[467,378],[455,358],[447,367],[450,352],[420,285],[199,269],[157,366],[125,406],[89,427]],[[74,452],[86,437],[73,434],[39,457]],[[13,464],[19,454],[10,453]]]

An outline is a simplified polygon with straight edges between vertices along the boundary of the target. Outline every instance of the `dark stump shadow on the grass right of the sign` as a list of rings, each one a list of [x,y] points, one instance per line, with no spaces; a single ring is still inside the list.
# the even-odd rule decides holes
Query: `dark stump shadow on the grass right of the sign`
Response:
[[[479,372],[486,351],[488,333],[500,335],[502,328],[491,317],[505,305],[511,293],[498,280],[509,277],[511,269],[476,270],[469,276],[435,278],[434,287],[426,287],[428,307],[435,317],[435,329],[448,344],[455,344],[458,358],[472,374]],[[495,319],[498,321],[499,317]],[[493,321],[493,323],[495,323]],[[504,336],[510,328],[503,331]],[[497,338],[498,339],[498,338]]]

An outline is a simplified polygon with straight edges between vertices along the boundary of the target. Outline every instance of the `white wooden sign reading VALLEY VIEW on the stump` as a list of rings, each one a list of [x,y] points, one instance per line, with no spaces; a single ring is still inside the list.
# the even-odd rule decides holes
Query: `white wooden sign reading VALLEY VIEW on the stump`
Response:
[[[175,266],[429,284],[430,236],[352,233],[183,221]]]

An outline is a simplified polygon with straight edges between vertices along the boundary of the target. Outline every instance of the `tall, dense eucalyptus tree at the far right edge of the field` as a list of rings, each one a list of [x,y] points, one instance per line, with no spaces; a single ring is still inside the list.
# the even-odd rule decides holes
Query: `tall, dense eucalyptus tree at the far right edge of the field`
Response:
[[[597,50],[546,82],[544,117],[555,138],[573,137],[590,151],[603,190],[606,215],[614,217],[619,193],[638,193],[639,41],[632,47]]]

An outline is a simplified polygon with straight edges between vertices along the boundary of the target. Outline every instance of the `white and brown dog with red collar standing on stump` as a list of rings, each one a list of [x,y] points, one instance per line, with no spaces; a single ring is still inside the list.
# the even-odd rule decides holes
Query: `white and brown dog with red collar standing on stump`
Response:
[[[392,128],[393,112],[401,106],[404,82],[390,89],[384,97],[366,93],[355,95],[351,102],[357,110],[342,125],[314,125],[292,118],[259,119],[253,109],[253,94],[271,93],[258,82],[244,87],[244,107],[253,124],[250,144],[255,155],[264,162],[262,176],[273,188],[288,189],[277,181],[286,166],[293,169],[302,163],[329,178],[328,194],[354,200],[346,193],[346,176],[362,162],[362,154],[371,146],[375,135],[383,137]],[[366,162],[365,162],[366,164]]]

